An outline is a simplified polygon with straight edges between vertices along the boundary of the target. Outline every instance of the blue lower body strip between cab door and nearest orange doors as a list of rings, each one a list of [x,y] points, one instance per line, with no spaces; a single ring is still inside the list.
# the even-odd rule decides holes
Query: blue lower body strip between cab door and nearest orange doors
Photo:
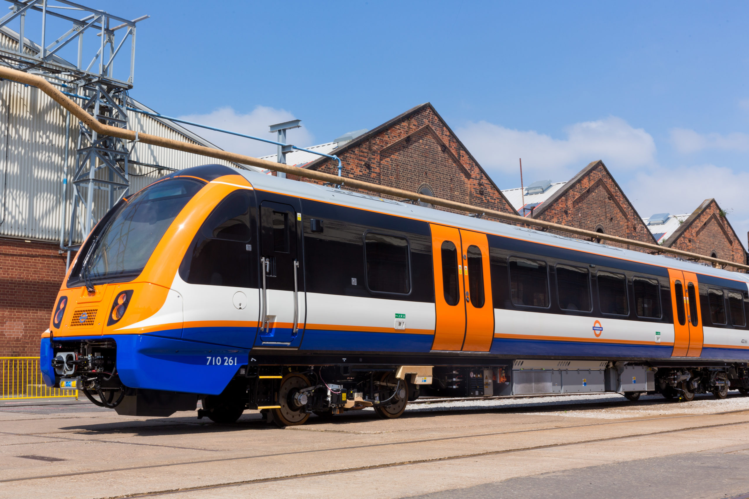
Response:
[[[307,329],[301,349],[341,352],[429,352],[432,343],[432,334]]]

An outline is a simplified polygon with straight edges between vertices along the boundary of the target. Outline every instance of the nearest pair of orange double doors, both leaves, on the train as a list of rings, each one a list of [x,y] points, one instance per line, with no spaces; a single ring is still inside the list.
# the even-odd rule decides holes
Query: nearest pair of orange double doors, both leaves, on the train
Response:
[[[436,326],[432,350],[488,352],[494,337],[485,234],[431,224]]]

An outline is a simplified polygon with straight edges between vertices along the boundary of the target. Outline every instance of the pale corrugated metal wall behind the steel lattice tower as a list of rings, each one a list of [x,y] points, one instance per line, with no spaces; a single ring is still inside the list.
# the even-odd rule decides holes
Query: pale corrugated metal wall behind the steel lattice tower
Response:
[[[0,37],[0,43],[3,38]],[[60,105],[37,88],[7,80],[0,82],[0,236],[59,241],[65,115],[66,111]],[[129,120],[130,129],[195,143],[144,114],[130,111]],[[76,168],[78,133],[78,120],[71,117],[70,141],[67,144],[69,177],[66,218],[70,218],[72,207],[70,180]],[[131,157],[139,162],[180,170],[207,163],[234,166],[229,162],[148,144],[136,144]],[[169,171],[160,174],[154,168],[130,165],[130,174],[133,174],[130,177],[130,192],[137,192],[167,173]],[[106,170],[100,171],[97,177],[106,178],[104,175]],[[97,219],[107,209],[108,194],[105,191],[95,192],[94,212]],[[69,223],[67,219],[66,227]],[[81,237],[81,231],[76,230],[75,239],[79,242]]]

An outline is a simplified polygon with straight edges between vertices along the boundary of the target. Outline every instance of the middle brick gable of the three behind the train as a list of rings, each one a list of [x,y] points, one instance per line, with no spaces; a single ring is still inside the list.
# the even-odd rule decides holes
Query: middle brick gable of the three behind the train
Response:
[[[643,219],[601,161],[583,168],[560,191],[540,205],[533,218],[585,230],[601,229],[612,236],[655,244]],[[608,241],[605,244],[644,251],[637,246]]]

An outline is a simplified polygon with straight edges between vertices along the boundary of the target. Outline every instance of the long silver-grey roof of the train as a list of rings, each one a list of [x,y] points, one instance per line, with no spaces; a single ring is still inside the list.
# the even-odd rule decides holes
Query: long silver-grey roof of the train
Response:
[[[240,171],[255,189],[279,192],[280,194],[297,196],[310,200],[319,200],[327,203],[352,206],[354,208],[368,209],[389,215],[416,218],[434,224],[446,224],[461,227],[478,232],[496,234],[497,236],[524,239],[530,242],[538,242],[545,245],[559,246],[586,253],[599,254],[606,257],[620,258],[653,266],[669,267],[685,272],[711,275],[715,278],[740,281],[749,289],[749,275],[741,272],[730,272],[724,269],[715,269],[712,266],[704,266],[700,263],[664,255],[653,255],[632,251],[624,248],[616,248],[597,242],[583,241],[568,236],[560,236],[554,233],[542,232],[540,230],[518,227],[497,221],[483,220],[478,217],[460,215],[458,213],[446,212],[438,209],[401,203],[396,200],[379,198],[374,195],[366,195],[360,192],[352,192],[344,189],[321,186],[315,183],[299,182],[297,180],[283,179],[266,174],[258,174],[253,171]]]

